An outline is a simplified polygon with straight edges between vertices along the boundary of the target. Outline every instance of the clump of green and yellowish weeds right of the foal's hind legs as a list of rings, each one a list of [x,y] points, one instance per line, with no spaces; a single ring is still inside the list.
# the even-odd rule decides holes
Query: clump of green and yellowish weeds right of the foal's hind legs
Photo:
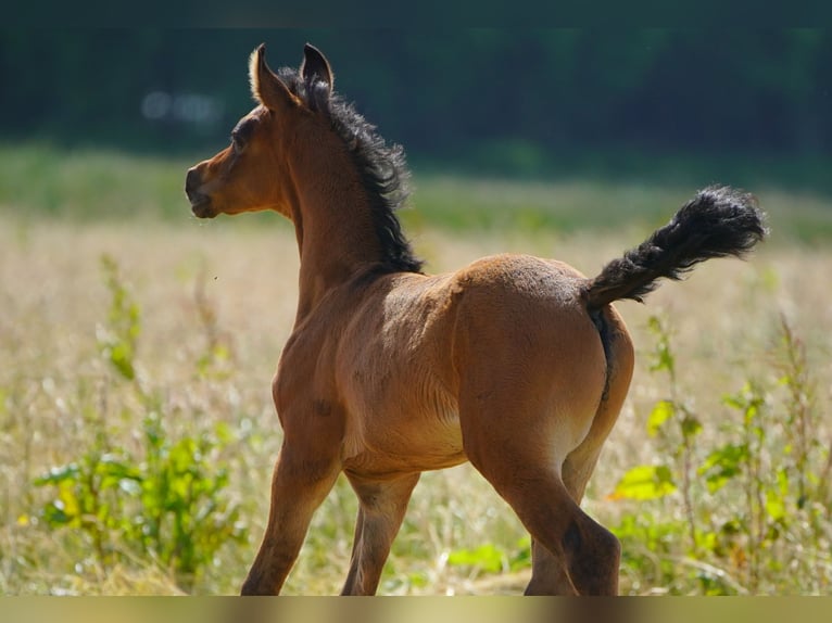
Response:
[[[825,480],[832,468],[817,434],[821,419],[803,343],[781,318],[773,379],[746,381],[724,396],[728,412],[718,434],[701,435],[699,419],[679,396],[670,334],[655,317],[650,328],[657,338],[652,370],[668,373],[670,397],[647,418],[660,460],[630,469],[610,496],[642,503],[616,526],[626,542],[625,565],[671,592],[828,587],[829,557],[794,555],[802,543],[830,535]],[[668,505],[679,501],[684,520],[668,519]],[[680,533],[686,533],[686,545]],[[680,577],[680,561],[689,577]]]

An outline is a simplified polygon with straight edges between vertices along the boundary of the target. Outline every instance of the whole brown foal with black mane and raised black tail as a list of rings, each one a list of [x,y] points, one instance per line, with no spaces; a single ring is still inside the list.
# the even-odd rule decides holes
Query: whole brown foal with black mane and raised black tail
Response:
[[[324,54],[273,72],[261,44],[249,77],[254,109],[185,186],[197,217],[278,212],[300,253],[272,384],[283,440],[241,593],[280,592],[344,473],[360,510],[342,595],[375,594],[421,472],[470,461],[531,535],[525,594],[617,594],[620,543],[580,507],[633,373],[612,304],[743,257],[767,233],[757,200],[705,188],[593,278],[522,254],[430,275],[395,216],[403,150],[333,91]]]

